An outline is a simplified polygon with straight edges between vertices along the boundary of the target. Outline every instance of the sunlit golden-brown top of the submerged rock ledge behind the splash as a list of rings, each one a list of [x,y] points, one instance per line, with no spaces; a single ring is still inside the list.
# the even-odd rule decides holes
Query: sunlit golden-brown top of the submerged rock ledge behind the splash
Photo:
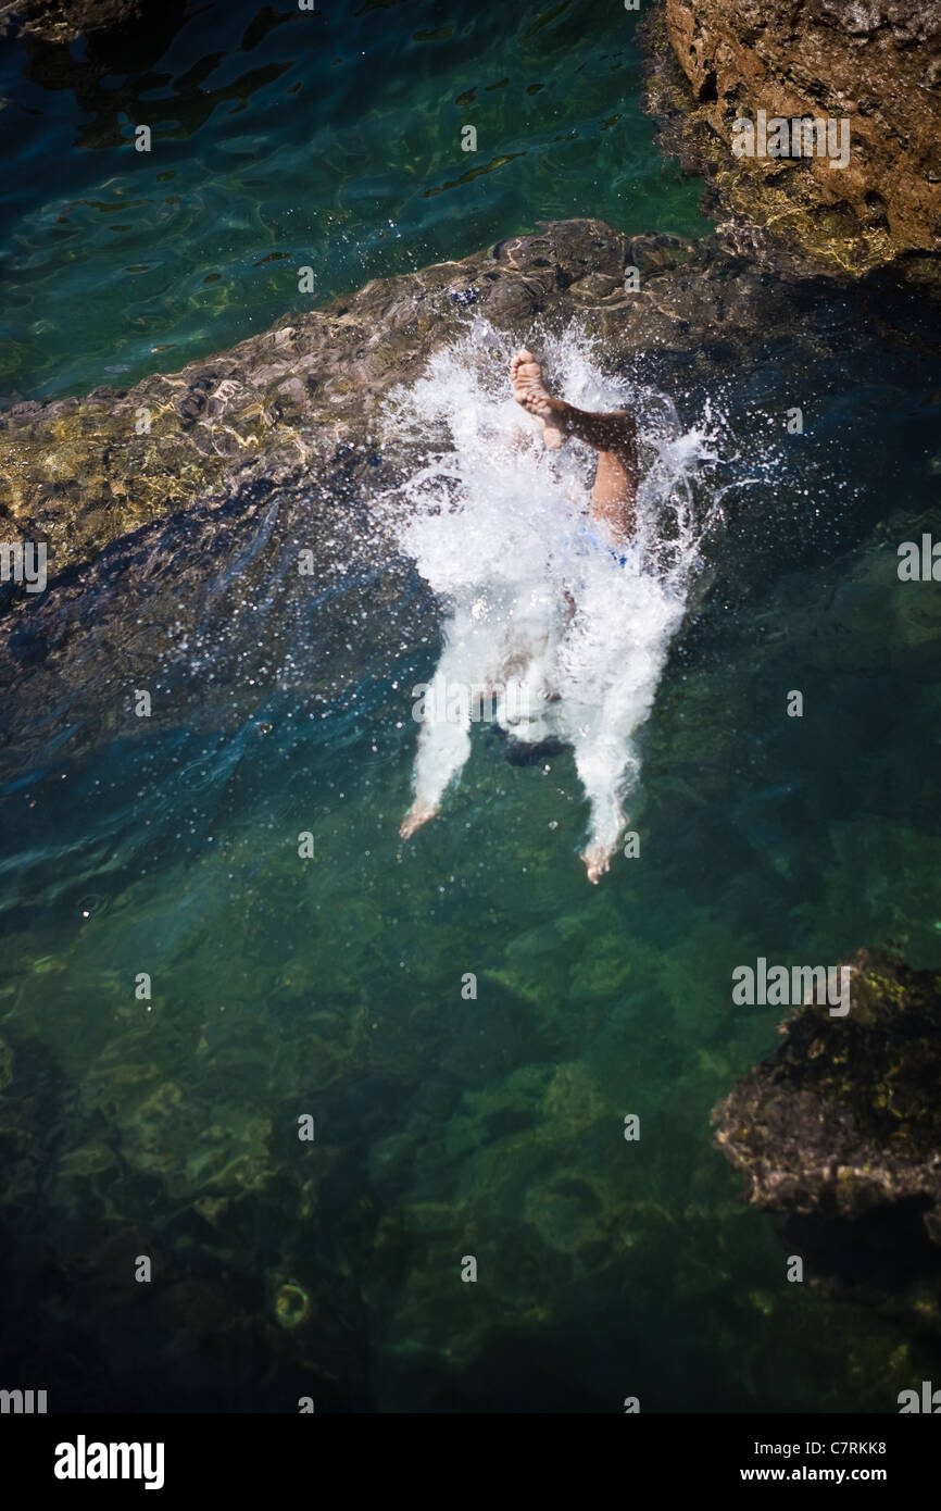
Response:
[[[627,267],[637,290],[625,289]],[[130,390],[18,403],[0,417],[0,539],[45,542],[54,580],[140,526],[255,484],[340,474],[375,487],[381,400],[479,314],[521,338],[538,320],[578,320],[604,338],[613,370],[646,348],[711,360],[719,373],[748,332],[799,325],[791,305],[711,243],[554,222],[373,281]]]

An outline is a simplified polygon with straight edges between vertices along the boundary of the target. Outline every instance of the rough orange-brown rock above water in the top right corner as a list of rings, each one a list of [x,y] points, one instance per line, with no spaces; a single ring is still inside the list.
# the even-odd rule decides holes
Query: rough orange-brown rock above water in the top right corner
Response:
[[[941,251],[938,6],[668,0],[648,36],[662,145],[708,174],[722,213],[831,272]],[[734,157],[733,121],[758,110],[847,119],[849,165]]]

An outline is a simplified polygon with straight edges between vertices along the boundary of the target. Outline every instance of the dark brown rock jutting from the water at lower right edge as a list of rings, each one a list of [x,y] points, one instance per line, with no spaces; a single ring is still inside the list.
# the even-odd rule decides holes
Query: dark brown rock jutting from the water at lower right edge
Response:
[[[745,1198],[802,1219],[811,1250],[844,1228],[847,1250],[896,1231],[936,1251],[941,976],[876,950],[847,964],[847,1017],[796,1008],[781,1047],[714,1109],[714,1142],[745,1174]]]

